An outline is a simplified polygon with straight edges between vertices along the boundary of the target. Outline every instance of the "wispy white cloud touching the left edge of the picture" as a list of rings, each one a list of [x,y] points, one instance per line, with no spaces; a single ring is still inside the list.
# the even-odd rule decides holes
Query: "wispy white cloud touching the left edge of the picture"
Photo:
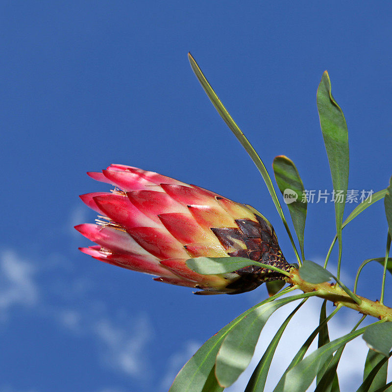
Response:
[[[5,314],[15,305],[33,306],[38,300],[34,282],[35,269],[14,251],[0,253],[0,312]]]

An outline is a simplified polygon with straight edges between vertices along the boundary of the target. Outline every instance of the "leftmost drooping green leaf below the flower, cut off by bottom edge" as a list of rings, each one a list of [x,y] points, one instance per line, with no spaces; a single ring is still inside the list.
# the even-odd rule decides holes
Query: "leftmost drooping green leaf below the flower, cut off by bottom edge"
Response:
[[[279,297],[276,294],[267,298],[263,302],[258,303],[252,308],[245,311],[243,314],[232,320],[229,324],[223,327],[218,333],[212,336],[206,343],[204,343],[196,352],[196,354],[184,365],[184,367],[177,374],[173,381],[169,392],[200,392],[206,383],[208,376],[215,364],[215,359],[221,343],[227,333],[233,329],[242,319],[246,318],[252,312],[263,306],[275,298]]]

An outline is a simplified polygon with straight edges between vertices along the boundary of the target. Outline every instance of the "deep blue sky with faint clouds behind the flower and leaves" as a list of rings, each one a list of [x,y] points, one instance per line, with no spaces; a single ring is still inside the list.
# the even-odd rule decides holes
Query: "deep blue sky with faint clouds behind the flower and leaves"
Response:
[[[196,296],[78,252],[88,241],[73,225],[95,219],[78,195],[108,190],[87,171],[128,164],[251,204],[294,261],[261,177],[204,95],[188,51],[267,168],[285,154],[315,190],[332,189],[316,107],[327,69],[349,129],[349,189],[388,185],[388,2],[12,1],[1,10],[0,392],[166,391],[198,345],[266,297],[264,287]],[[334,229],[332,203],[309,206],[308,259],[321,262]],[[386,230],[382,202],[344,229],[347,283],[364,259],[384,255]],[[359,285],[370,298],[382,274],[373,267]],[[264,342],[287,314],[271,320]],[[290,332],[298,346],[306,336],[295,327],[308,319],[312,330],[317,318],[314,301]],[[331,330],[354,320],[343,312]],[[349,375],[367,351],[361,340],[350,350]]]

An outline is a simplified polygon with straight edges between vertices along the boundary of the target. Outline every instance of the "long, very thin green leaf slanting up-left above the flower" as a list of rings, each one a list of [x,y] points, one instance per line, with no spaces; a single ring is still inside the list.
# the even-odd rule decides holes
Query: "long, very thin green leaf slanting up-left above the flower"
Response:
[[[263,161],[261,160],[260,156],[257,154],[256,150],[253,148],[253,146],[246,139],[242,130],[239,128],[239,126],[235,123],[233,118],[230,116],[229,112],[223,106],[221,99],[218,98],[217,94],[215,93],[215,91],[211,87],[210,83],[208,82],[208,80],[206,79],[204,74],[201,72],[200,67],[197,65],[197,63],[196,63],[195,59],[192,57],[191,53],[188,53],[188,59],[189,59],[189,62],[191,63],[191,67],[192,67],[193,72],[195,73],[198,81],[200,82],[201,86],[203,87],[208,98],[210,98],[212,104],[215,106],[215,109],[217,109],[218,113],[221,115],[221,118],[227,124],[227,126],[230,128],[230,130],[234,133],[237,140],[245,148],[245,151],[248,153],[248,155],[250,156],[250,158],[252,159],[252,161],[256,165],[257,169],[259,170],[261,176],[263,177],[264,182],[267,185],[268,191],[270,192],[272,201],[275,204],[276,210],[278,211],[278,214],[279,214],[280,218],[282,219],[283,224],[286,228],[287,234],[289,235],[291,244],[292,244],[294,252],[295,252],[295,256],[296,256],[298,262],[300,262],[298,251],[297,251],[295,244],[294,244],[293,236],[290,232],[286,218],[283,214],[282,207],[279,203],[278,196],[276,195],[276,192],[273,187],[270,175],[268,174],[267,169],[266,169]]]

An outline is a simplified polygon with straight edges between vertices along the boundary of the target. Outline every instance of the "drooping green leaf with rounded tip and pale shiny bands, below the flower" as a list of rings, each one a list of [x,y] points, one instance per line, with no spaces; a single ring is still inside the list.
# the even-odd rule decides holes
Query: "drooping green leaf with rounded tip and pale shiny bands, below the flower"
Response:
[[[316,293],[303,293],[268,302],[249,313],[227,333],[219,349],[215,375],[222,387],[229,387],[249,365],[261,330],[271,314],[296,299],[307,298]]]

